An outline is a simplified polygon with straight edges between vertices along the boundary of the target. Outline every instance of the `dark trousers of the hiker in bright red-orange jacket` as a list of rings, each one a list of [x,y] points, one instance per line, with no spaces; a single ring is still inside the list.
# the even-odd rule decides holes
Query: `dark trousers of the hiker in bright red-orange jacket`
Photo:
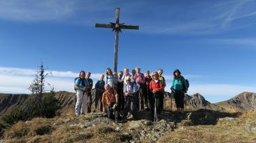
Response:
[[[155,114],[155,102],[157,102],[157,114],[160,114],[162,109],[161,106],[163,106],[163,103],[161,102],[163,100],[163,92],[157,91],[155,93],[155,96],[153,94],[153,98],[151,99],[151,104],[150,104],[150,110],[151,113],[154,115]]]

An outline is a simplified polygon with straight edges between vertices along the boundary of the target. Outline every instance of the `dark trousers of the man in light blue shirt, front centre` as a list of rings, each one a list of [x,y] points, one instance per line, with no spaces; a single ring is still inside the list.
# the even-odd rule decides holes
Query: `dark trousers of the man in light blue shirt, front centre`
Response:
[[[129,111],[133,117],[136,116],[135,114],[137,111],[137,102],[138,96],[136,94],[125,96],[125,110],[123,117],[127,117]]]

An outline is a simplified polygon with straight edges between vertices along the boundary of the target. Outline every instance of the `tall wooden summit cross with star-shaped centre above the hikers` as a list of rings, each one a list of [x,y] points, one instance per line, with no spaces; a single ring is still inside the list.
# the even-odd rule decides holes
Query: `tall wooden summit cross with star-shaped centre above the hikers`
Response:
[[[95,24],[95,27],[101,28],[113,28],[112,31],[116,31],[115,41],[114,41],[114,71],[117,72],[117,58],[118,58],[118,34],[122,33],[122,28],[126,29],[136,29],[139,30],[139,26],[125,25],[125,23],[119,23],[119,11],[120,8],[116,8],[116,23],[110,22],[110,24]]]

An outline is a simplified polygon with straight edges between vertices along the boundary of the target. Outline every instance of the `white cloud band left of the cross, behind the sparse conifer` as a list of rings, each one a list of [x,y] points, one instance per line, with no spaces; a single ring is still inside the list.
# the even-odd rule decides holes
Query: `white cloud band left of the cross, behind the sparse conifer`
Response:
[[[0,67],[0,92],[29,94],[27,88],[36,73],[37,70],[29,68]],[[92,73],[91,79],[96,82],[100,75],[100,73]],[[53,85],[56,91],[74,91],[75,77],[78,77],[78,73],[53,70],[52,76],[49,75],[46,82]]]

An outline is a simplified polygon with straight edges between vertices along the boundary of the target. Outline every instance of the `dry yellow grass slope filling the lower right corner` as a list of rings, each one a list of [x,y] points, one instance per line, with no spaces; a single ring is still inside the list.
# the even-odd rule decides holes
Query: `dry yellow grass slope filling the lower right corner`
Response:
[[[256,142],[256,134],[242,127],[248,123],[256,123],[256,111],[233,121],[218,121],[217,125],[181,127],[158,142]]]

